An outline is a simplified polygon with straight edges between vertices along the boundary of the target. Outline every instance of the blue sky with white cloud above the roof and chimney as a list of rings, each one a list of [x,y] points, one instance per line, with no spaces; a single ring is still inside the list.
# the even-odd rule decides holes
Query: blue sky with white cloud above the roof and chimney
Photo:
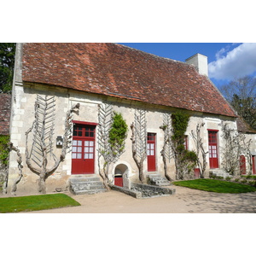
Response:
[[[119,43],[145,52],[185,61],[200,53],[208,57],[209,78],[219,88],[245,75],[256,76],[256,44],[232,43]]]

